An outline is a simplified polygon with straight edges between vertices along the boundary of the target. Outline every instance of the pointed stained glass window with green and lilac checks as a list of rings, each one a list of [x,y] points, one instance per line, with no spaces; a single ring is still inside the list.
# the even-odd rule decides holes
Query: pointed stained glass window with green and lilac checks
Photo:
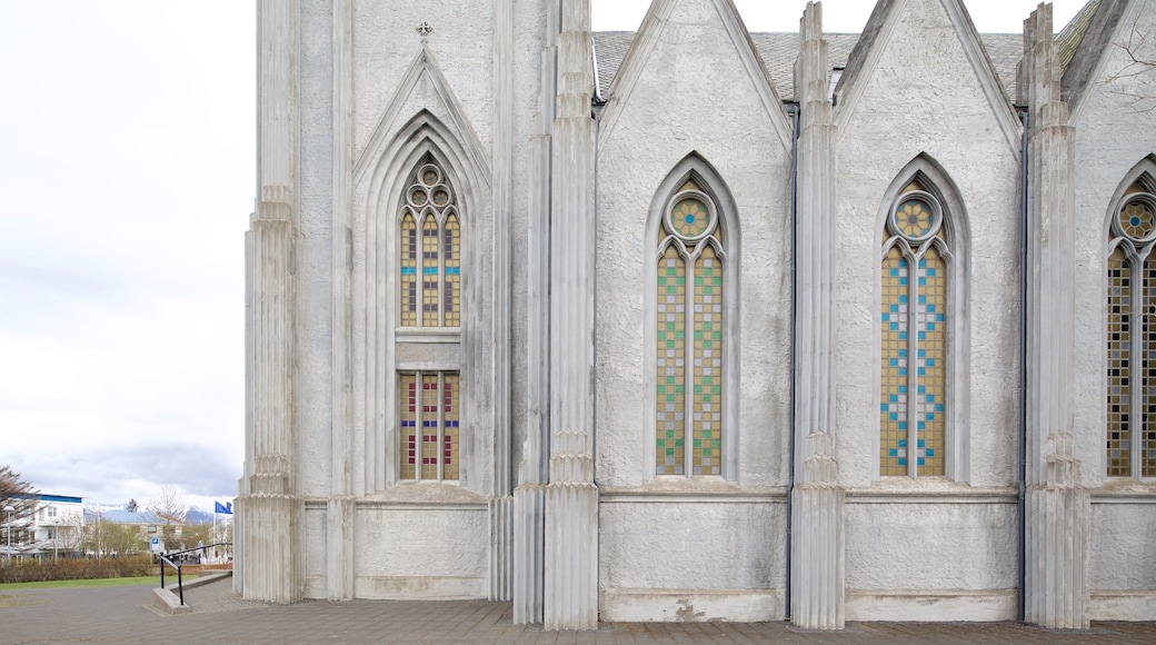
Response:
[[[654,348],[658,475],[722,475],[721,249],[714,202],[690,179],[667,207],[659,243]]]

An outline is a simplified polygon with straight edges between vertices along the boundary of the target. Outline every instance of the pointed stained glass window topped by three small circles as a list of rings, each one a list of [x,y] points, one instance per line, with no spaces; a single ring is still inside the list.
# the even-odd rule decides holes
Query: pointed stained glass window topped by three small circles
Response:
[[[453,190],[431,160],[412,176],[400,222],[399,325],[460,326],[461,224]]]

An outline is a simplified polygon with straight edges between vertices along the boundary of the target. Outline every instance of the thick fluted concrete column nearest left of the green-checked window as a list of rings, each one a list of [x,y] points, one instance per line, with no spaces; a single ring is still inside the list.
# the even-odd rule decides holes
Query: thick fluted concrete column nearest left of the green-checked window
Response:
[[[594,69],[590,0],[563,0],[550,217],[550,483],[543,625],[598,628],[594,485]]]

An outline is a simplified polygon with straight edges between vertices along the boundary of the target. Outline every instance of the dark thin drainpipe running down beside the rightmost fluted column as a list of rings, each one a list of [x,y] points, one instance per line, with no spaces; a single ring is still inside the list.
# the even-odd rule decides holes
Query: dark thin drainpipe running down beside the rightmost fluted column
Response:
[[[1028,583],[1028,526],[1025,512],[1028,479],[1028,109],[1020,110],[1023,134],[1020,138],[1020,472],[1016,517],[1020,520],[1020,588],[1016,593],[1016,616],[1023,622],[1025,615],[1024,591]]]

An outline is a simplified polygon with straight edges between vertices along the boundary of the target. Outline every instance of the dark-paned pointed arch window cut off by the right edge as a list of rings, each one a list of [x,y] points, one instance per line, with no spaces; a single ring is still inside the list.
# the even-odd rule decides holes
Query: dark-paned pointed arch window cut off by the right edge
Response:
[[[1156,477],[1156,190],[1119,200],[1107,257],[1107,476]]]

